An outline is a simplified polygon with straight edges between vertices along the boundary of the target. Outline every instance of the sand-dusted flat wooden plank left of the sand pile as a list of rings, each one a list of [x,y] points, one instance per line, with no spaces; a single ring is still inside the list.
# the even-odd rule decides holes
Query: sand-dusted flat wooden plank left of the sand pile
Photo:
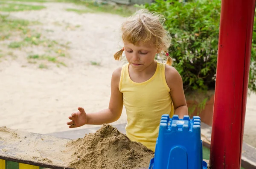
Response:
[[[71,169],[67,152],[67,138],[0,128],[0,159],[42,166],[51,169]]]

